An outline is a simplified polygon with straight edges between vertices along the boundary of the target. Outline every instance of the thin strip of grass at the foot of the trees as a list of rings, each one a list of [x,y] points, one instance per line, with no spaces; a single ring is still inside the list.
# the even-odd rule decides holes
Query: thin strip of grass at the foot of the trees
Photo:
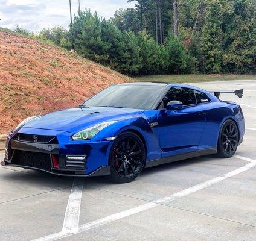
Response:
[[[255,80],[256,75],[145,75],[133,78],[135,81],[156,81],[166,83],[193,83],[223,80]]]

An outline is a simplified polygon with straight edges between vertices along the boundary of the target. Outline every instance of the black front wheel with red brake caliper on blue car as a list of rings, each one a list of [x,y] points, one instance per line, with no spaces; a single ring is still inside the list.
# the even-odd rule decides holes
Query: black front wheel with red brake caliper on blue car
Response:
[[[145,157],[144,144],[138,135],[132,132],[120,134],[110,151],[112,180],[118,183],[134,180],[144,167]]]

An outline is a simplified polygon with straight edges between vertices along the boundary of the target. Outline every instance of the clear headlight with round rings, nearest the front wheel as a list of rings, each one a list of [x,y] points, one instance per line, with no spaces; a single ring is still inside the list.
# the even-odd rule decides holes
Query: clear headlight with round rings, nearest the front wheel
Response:
[[[99,131],[103,130],[105,127],[108,127],[111,124],[114,124],[115,122],[117,121],[101,122],[100,124],[97,124],[92,127],[86,128],[85,130],[79,131],[77,134],[74,134],[74,136],[72,136],[72,139],[73,140],[90,140]]]

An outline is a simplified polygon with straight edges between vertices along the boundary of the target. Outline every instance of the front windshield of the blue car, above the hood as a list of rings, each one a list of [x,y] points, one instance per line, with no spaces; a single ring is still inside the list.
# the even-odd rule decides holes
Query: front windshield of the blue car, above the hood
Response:
[[[83,105],[88,107],[116,107],[149,110],[164,86],[110,86],[92,96]]]

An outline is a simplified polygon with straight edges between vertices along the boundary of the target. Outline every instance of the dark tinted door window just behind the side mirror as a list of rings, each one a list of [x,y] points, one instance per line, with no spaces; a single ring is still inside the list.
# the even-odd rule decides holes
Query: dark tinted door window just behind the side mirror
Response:
[[[196,104],[196,96],[194,95],[193,89],[183,87],[171,87],[168,93],[165,95],[164,108],[167,107],[170,101],[180,101],[183,105]]]

